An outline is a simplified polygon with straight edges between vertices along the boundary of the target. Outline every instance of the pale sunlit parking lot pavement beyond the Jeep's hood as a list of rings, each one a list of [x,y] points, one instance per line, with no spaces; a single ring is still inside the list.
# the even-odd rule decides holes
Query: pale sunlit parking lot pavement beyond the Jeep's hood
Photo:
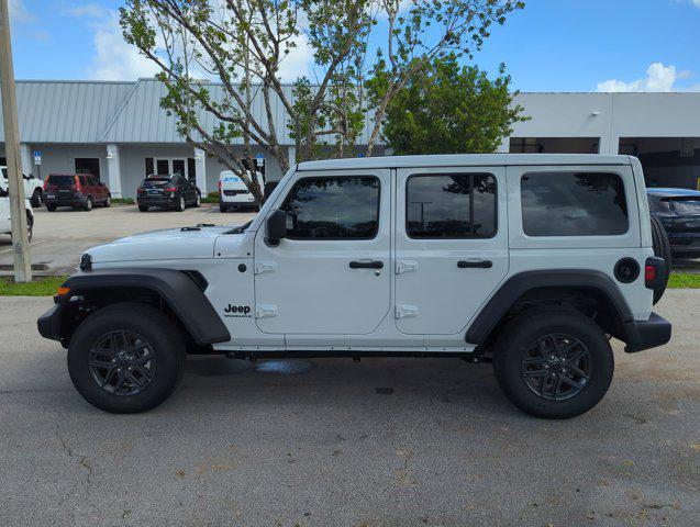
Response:
[[[240,225],[255,213],[219,212],[219,205],[202,204],[185,212],[152,209],[138,212],[136,205],[96,206],[91,212],[57,209],[34,209],[32,264],[40,274],[69,274],[90,247],[132,234],[159,228],[185,227],[198,223]],[[0,235],[0,273],[12,273],[10,236]]]

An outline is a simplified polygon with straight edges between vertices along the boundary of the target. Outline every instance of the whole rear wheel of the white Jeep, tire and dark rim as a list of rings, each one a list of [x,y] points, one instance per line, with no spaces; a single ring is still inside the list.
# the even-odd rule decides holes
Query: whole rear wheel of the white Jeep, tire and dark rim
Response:
[[[524,313],[501,332],[493,370],[505,396],[536,417],[569,418],[603,397],[614,370],[600,327],[576,311]]]

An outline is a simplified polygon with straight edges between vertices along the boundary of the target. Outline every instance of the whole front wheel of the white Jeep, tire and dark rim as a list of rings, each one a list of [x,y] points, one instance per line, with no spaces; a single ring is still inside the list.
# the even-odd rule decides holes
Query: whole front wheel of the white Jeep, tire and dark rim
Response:
[[[93,406],[129,414],[164,402],[182,378],[185,346],[163,312],[121,303],[90,315],[68,347],[74,385]]]

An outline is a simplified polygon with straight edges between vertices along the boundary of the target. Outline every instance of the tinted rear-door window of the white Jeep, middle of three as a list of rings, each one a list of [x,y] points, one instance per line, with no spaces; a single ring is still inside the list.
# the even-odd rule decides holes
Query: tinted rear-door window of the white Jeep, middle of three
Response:
[[[405,229],[412,238],[490,238],[496,178],[489,173],[411,176]]]

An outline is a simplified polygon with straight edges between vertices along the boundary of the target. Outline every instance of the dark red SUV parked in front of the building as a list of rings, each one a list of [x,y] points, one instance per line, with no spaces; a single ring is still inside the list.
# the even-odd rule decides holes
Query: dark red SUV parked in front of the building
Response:
[[[92,205],[111,206],[110,189],[89,173],[49,173],[44,181],[44,202],[51,212],[57,206],[91,211]]]

